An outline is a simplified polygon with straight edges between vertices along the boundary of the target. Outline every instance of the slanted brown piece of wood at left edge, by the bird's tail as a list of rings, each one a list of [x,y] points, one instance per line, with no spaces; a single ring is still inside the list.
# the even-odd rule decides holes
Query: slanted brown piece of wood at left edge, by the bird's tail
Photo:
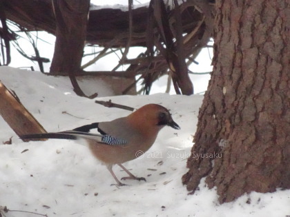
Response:
[[[46,130],[1,82],[0,115],[18,136],[46,133]]]

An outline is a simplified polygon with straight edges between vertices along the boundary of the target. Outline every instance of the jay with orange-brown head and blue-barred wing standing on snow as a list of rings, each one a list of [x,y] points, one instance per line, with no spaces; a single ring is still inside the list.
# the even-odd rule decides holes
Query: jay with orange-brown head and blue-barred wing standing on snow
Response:
[[[117,186],[126,185],[119,181],[113,172],[113,165],[119,165],[128,176],[121,180],[144,180],[143,177],[134,176],[122,165],[134,160],[153,145],[158,132],[164,126],[180,130],[180,126],[173,121],[170,112],[162,105],[147,104],[135,110],[128,116],[113,121],[90,123],[63,132],[45,134],[25,134],[22,139],[59,138],[81,141],[84,139],[91,153],[101,163],[106,165],[108,171],[116,181]],[[97,130],[98,134],[90,130]]]

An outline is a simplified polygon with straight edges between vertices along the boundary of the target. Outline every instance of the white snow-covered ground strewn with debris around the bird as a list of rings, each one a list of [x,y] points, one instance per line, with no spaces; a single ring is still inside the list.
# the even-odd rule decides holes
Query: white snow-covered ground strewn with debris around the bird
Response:
[[[49,132],[70,130],[130,114],[76,96],[65,77],[1,67],[0,79],[16,92],[21,103]],[[86,85],[91,92],[99,86],[99,83]],[[104,85],[97,92],[103,92],[103,96],[110,94]],[[160,103],[171,110],[173,119],[181,127],[181,130],[164,127],[148,152],[124,164],[132,169],[133,174],[144,176],[146,182],[126,180],[124,183],[128,186],[111,185],[115,180],[86,146],[53,139],[23,143],[0,118],[0,143],[13,136],[12,145],[0,145],[0,206],[48,216],[290,215],[290,190],[278,189],[267,194],[252,192],[232,203],[220,205],[216,190],[208,189],[202,179],[200,190],[188,195],[181,176],[187,171],[186,158],[193,145],[202,95],[98,98],[109,99],[135,108],[147,103]],[[117,177],[125,176],[119,167],[113,169]],[[5,215],[37,216],[12,211]]]

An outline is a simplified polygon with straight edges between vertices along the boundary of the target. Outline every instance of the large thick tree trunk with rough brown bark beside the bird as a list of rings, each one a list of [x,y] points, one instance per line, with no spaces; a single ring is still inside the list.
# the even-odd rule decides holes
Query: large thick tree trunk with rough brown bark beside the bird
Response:
[[[290,23],[284,0],[216,4],[213,74],[182,181],[194,192],[206,176],[224,203],[290,188]]]

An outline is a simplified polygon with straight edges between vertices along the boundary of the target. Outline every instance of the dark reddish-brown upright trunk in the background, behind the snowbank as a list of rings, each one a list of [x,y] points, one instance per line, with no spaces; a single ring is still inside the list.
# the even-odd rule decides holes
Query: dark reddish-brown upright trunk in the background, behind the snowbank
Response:
[[[57,39],[50,74],[77,72],[81,68],[90,1],[54,0],[52,2]]]

